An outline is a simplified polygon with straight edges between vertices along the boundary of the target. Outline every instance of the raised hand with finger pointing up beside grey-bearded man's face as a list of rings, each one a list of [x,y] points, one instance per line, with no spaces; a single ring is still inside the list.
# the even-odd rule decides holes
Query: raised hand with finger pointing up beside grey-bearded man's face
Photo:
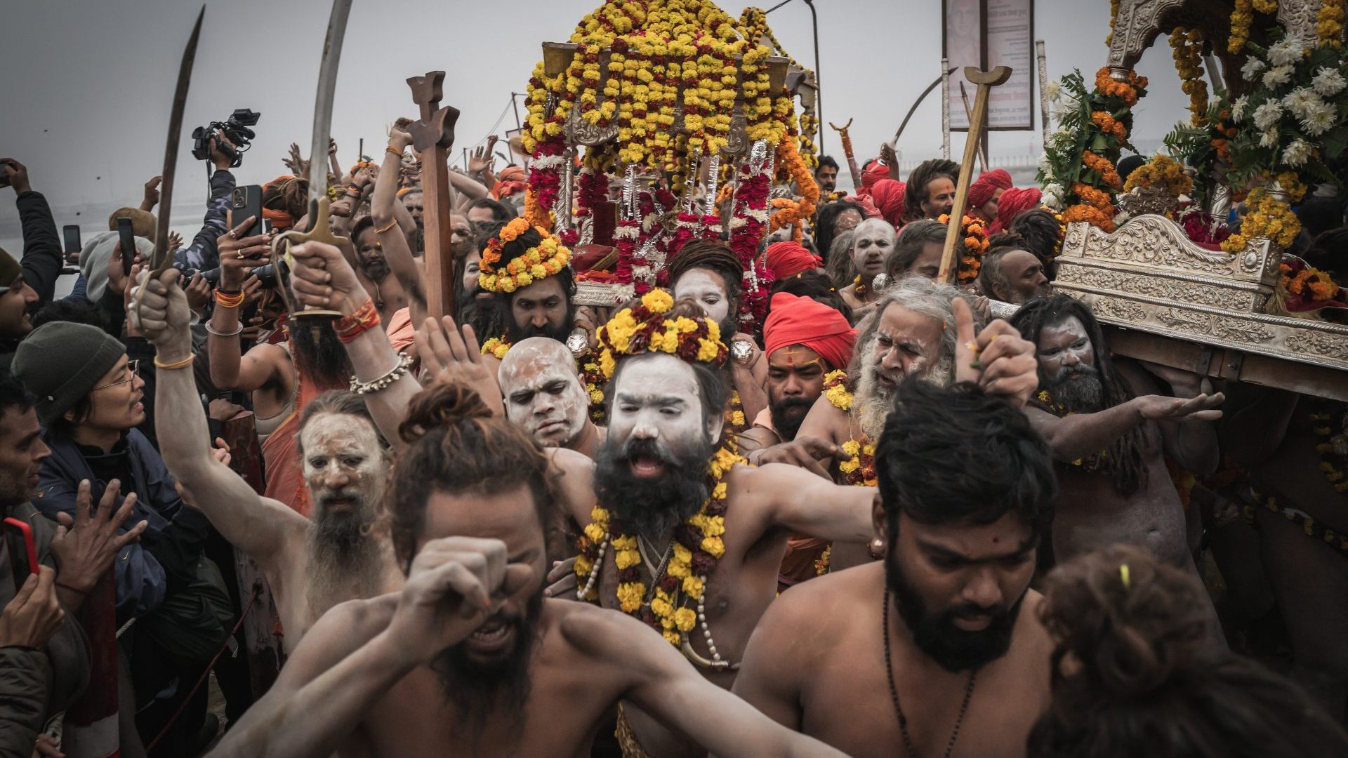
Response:
[[[1002,395],[1024,407],[1039,387],[1039,363],[1034,343],[1000,318],[973,333],[973,312],[964,298],[954,298],[954,380],[973,382],[988,394]]]

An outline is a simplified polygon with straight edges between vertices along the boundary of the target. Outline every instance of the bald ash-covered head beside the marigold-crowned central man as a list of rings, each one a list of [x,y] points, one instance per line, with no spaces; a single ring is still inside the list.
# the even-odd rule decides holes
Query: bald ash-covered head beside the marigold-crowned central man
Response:
[[[565,448],[580,438],[589,403],[566,345],[549,337],[520,340],[496,378],[507,418],[539,445]]]

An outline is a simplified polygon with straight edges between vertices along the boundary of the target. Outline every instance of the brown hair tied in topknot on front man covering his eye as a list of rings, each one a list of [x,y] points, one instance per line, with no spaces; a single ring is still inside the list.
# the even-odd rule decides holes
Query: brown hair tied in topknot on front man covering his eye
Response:
[[[527,487],[539,523],[553,507],[547,457],[519,426],[492,415],[483,398],[458,382],[418,392],[398,426],[407,450],[398,459],[390,488],[394,553],[411,571],[417,540],[434,492],[497,495]]]

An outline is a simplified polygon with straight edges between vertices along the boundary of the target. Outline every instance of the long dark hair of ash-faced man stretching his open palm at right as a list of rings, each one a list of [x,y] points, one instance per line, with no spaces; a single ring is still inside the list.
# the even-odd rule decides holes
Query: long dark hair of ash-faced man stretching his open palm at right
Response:
[[[1109,344],[1100,330],[1100,322],[1095,314],[1080,301],[1068,295],[1057,294],[1047,298],[1035,298],[1020,306],[1020,310],[1011,317],[1011,325],[1020,336],[1038,344],[1039,334],[1045,326],[1061,324],[1064,320],[1076,316],[1085,326],[1086,336],[1091,337],[1091,347],[1095,351],[1095,367],[1100,372],[1100,383],[1104,387],[1104,407],[1109,409],[1132,399],[1132,390],[1127,382],[1119,376],[1109,361]],[[1039,387],[1043,388],[1043,374],[1039,374]],[[1113,488],[1123,496],[1136,495],[1147,486],[1147,463],[1143,450],[1147,446],[1146,425],[1135,425],[1105,448],[1104,465],[1113,479]]]

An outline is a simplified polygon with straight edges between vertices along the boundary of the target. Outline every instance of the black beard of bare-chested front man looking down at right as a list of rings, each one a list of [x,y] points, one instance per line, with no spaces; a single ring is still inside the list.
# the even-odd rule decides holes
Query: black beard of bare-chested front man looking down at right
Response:
[[[1011,606],[980,608],[972,603],[956,603],[937,612],[930,612],[922,603],[917,588],[907,583],[894,554],[894,542],[884,557],[884,580],[887,600],[899,610],[899,618],[913,634],[913,643],[926,657],[948,672],[979,669],[1006,655],[1011,649],[1011,633],[1020,616],[1020,603],[1024,592]],[[1026,587],[1029,592],[1029,587]],[[992,618],[981,631],[965,631],[952,623],[960,615],[984,615]],[[886,630],[888,634],[888,630]]]

